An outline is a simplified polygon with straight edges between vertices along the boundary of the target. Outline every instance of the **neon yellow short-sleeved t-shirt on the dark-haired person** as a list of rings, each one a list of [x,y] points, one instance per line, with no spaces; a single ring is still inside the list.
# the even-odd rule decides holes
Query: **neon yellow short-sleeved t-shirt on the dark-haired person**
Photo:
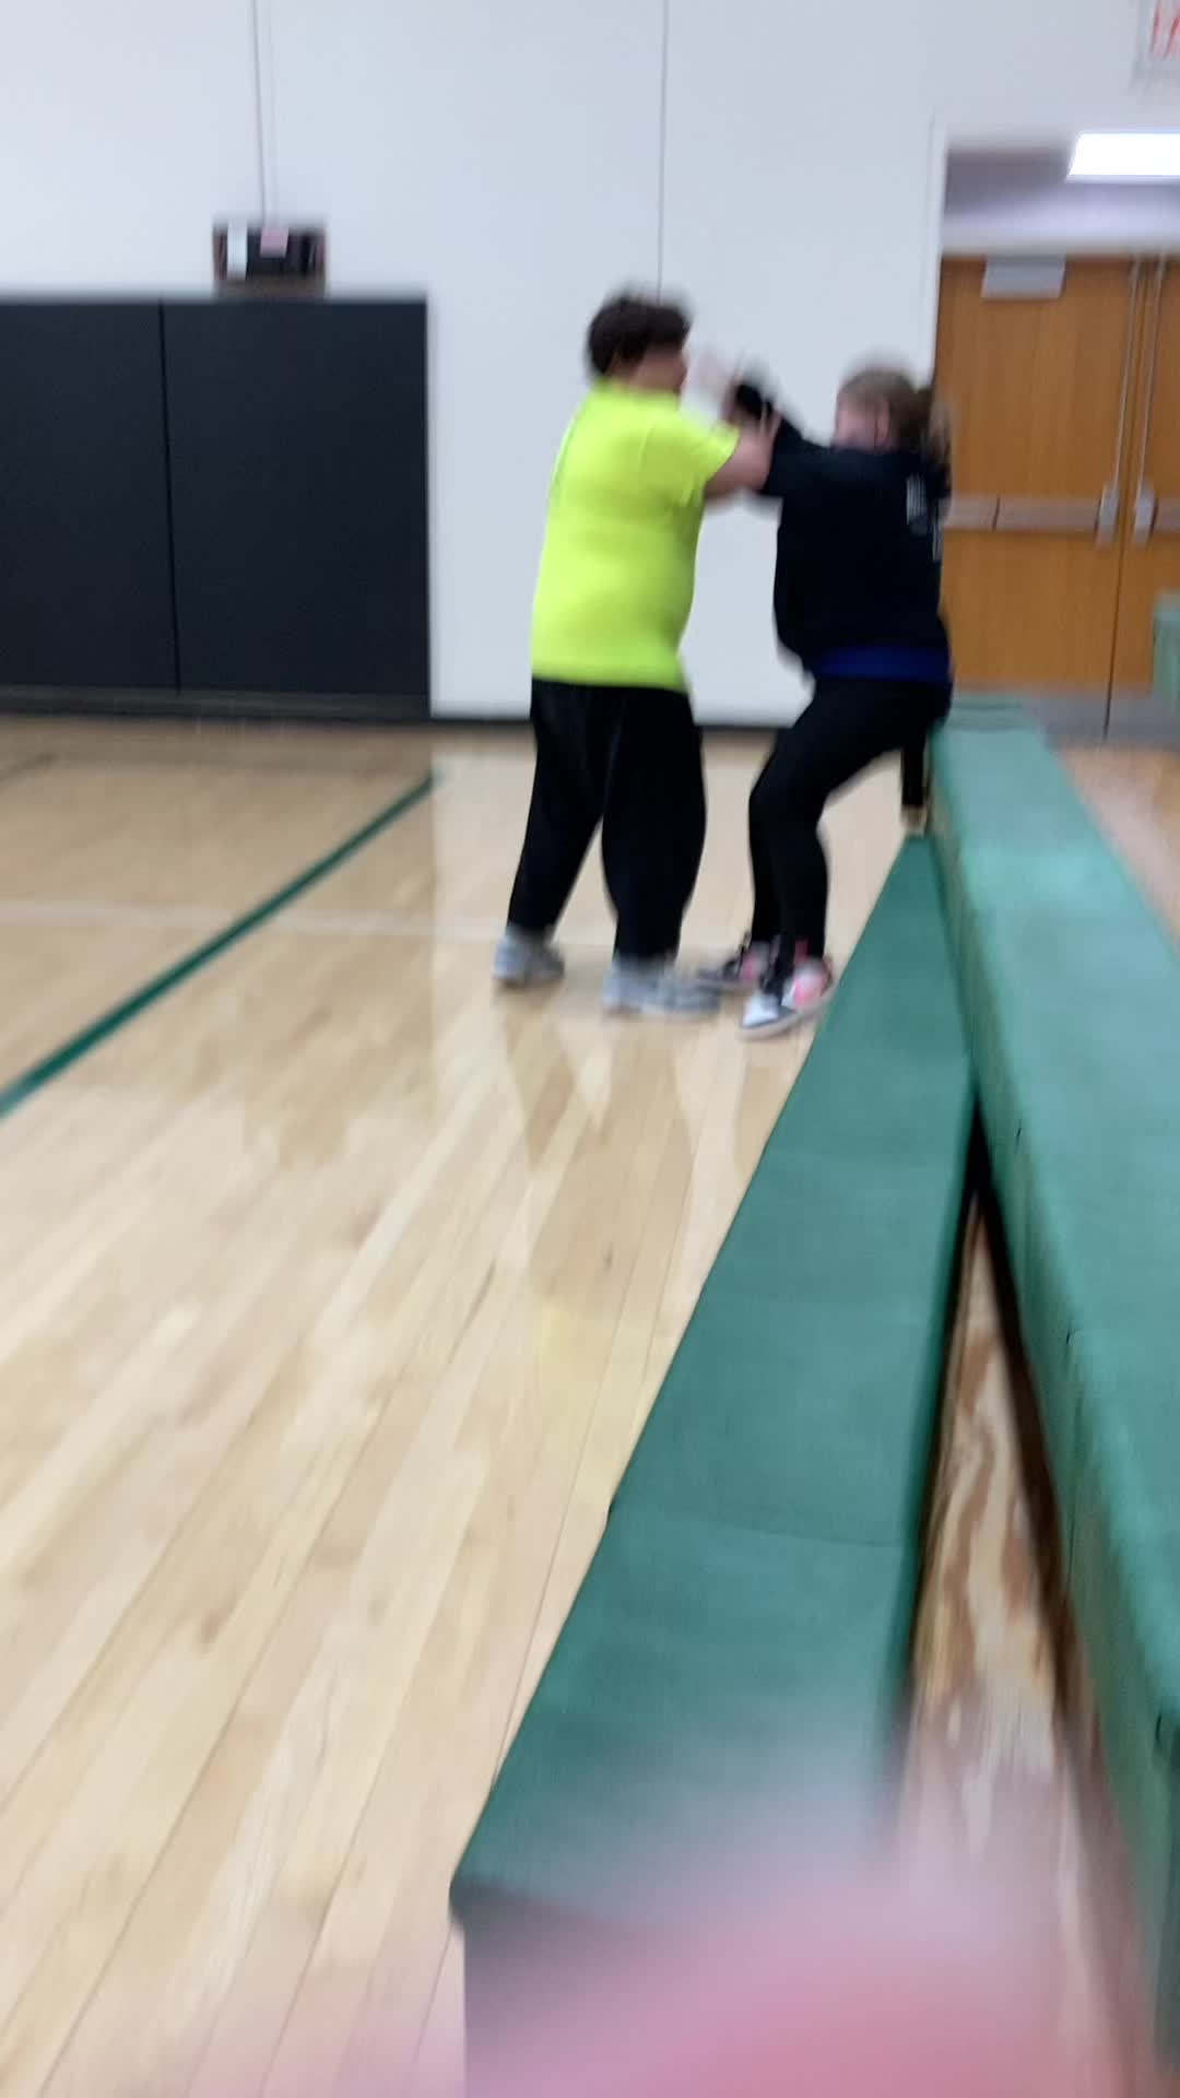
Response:
[[[561,449],[533,604],[533,676],[684,690],[705,487],[737,430],[687,415],[674,394],[609,380]]]

